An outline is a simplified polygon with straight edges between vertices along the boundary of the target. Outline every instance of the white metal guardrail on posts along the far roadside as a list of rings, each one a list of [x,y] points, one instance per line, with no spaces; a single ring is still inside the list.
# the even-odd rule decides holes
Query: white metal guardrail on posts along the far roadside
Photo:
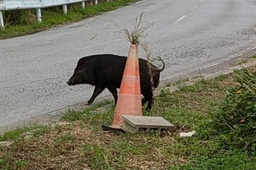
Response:
[[[67,13],[67,4],[81,3],[84,8],[85,1],[94,1],[95,5],[98,4],[98,0],[0,0],[0,28],[4,30],[2,11],[35,8],[37,10],[37,21],[42,22],[41,8],[63,5],[63,13]]]

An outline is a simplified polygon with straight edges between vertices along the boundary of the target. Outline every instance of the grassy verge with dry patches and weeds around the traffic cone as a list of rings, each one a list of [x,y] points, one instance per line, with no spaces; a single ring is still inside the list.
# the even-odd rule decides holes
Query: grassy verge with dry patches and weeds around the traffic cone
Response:
[[[104,132],[100,126],[112,123],[113,105],[105,111],[66,112],[54,126],[1,136],[14,143],[0,146],[0,169],[255,169],[255,83],[252,66],[193,85],[180,84],[174,93],[160,88],[153,110],[143,110],[143,115],[164,117],[176,125],[171,133]],[[192,130],[197,132],[192,138],[178,137]]]

